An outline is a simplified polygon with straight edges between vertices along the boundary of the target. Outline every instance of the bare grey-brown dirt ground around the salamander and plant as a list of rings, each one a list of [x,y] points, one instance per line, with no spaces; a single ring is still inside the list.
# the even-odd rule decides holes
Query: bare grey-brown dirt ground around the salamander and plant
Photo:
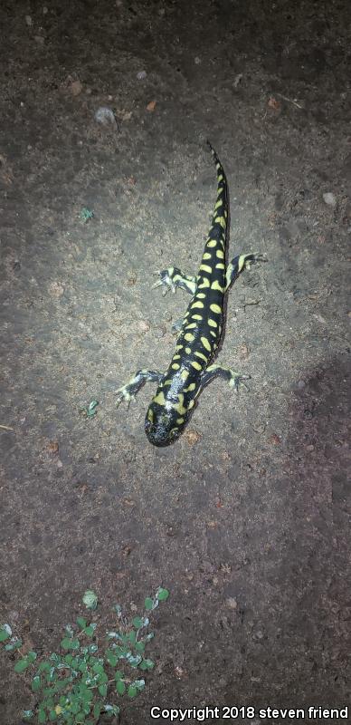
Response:
[[[351,707],[348,0],[4,0],[0,19],[0,621],[52,652],[86,588],[104,623],[163,585],[123,725],[169,721],[153,705]],[[250,391],[213,382],[157,449],[155,387],[128,411],[114,391],[173,352],[188,298],[153,271],[197,271],[206,138],[231,256],[268,260],[233,285],[218,357]],[[18,725],[31,693],[0,662]]]

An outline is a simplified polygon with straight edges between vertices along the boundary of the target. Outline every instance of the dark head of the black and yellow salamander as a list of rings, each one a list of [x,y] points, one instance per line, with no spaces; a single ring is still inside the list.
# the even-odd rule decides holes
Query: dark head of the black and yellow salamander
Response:
[[[179,438],[185,423],[185,416],[151,401],[145,419],[147,439],[154,446],[169,446]]]

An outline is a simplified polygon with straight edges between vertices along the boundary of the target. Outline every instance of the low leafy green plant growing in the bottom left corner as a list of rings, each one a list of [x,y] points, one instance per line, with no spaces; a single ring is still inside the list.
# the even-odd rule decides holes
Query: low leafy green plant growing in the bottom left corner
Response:
[[[133,617],[131,622],[123,617],[119,604],[115,604],[117,624],[102,637],[96,623],[78,617],[74,626],[65,626],[59,653],[52,652],[46,658],[39,658],[37,652],[23,652],[22,640],[13,636],[9,624],[3,624],[0,643],[6,652],[18,655],[14,671],[33,672],[31,688],[36,702],[32,710],[24,710],[24,720],[96,725],[102,713],[110,718],[118,715],[120,708],[116,699],[125,694],[134,698],[144,690],[145,680],[137,676],[137,671],[144,673],[154,668],[154,662],[145,656],[147,643],[154,637],[154,633],[147,633],[148,614],[159,602],[165,602],[168,595],[167,589],[158,587],[154,597],[145,599],[144,613]],[[88,590],[83,603],[93,610],[98,598]]]

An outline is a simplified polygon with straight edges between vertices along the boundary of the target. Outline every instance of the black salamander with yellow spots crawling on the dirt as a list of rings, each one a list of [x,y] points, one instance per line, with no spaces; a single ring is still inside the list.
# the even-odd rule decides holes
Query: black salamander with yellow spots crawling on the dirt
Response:
[[[184,275],[170,266],[157,272],[154,287],[163,286],[163,294],[182,287],[192,295],[178,334],[175,353],[166,372],[138,370],[126,385],[119,388],[118,405],[131,401],[141,386],[157,382],[157,392],[150,402],[145,430],[150,443],[168,446],[184,430],[196,398],[204,386],[218,376],[237,391],[250,375],[242,375],[230,368],[211,364],[219,345],[223,326],[223,297],[245,267],[262,257],[254,254],[235,256],[225,263],[227,230],[229,224],[228,185],[221,161],[208,144],[217,169],[217,201],[208,238],[204,247],[198,274]]]

